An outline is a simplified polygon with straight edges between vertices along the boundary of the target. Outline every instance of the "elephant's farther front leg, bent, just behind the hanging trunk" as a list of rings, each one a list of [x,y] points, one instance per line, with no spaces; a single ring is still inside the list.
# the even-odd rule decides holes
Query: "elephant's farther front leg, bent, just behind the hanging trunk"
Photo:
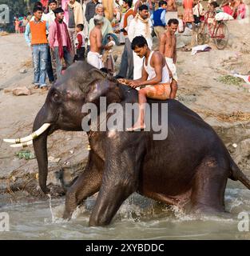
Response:
[[[84,172],[77,181],[69,188],[65,198],[65,212],[63,218],[71,218],[77,206],[89,196],[100,190],[102,169],[97,156],[89,154],[89,161]]]

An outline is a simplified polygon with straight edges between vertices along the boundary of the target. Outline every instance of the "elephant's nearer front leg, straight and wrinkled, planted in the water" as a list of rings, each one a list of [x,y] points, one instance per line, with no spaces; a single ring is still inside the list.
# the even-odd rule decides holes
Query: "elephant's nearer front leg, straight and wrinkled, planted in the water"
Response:
[[[89,218],[89,226],[108,225],[122,202],[137,191],[141,164],[140,156],[133,152],[116,152],[105,158],[101,189]]]

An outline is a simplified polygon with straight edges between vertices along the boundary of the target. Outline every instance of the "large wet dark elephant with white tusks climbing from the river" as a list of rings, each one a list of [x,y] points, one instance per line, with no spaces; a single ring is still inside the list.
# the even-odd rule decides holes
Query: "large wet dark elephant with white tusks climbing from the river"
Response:
[[[120,103],[122,110],[125,103],[138,101],[137,90],[86,62],[73,63],[50,88],[34,120],[33,130],[40,128],[40,132],[31,136],[39,185],[45,194],[50,193],[46,186],[48,136],[55,130],[82,131],[81,121],[86,116],[82,106],[88,102],[98,106],[101,97],[107,104]],[[77,206],[97,192],[89,226],[109,225],[134,192],[169,205],[183,204],[187,213],[212,214],[225,212],[228,178],[250,189],[250,181],[224,143],[198,114],[174,99],[148,102],[168,103],[167,138],[153,140],[152,130],[87,131],[91,147],[88,162],[66,192],[64,218],[70,218]]]

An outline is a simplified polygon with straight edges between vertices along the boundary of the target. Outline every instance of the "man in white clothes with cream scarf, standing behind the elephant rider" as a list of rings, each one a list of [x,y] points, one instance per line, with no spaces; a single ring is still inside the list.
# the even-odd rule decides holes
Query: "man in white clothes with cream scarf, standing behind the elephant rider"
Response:
[[[132,42],[133,38],[142,35],[149,46],[149,49],[152,49],[153,39],[151,36],[152,33],[152,22],[149,19],[149,7],[142,5],[139,7],[139,13],[130,22],[128,35],[129,41]],[[141,78],[141,70],[143,65],[143,58],[140,58],[133,52],[133,79]]]

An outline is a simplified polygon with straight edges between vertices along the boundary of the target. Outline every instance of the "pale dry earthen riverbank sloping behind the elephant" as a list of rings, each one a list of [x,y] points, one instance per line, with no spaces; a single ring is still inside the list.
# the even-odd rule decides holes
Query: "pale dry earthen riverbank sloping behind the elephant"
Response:
[[[232,70],[250,74],[248,23],[249,20],[244,24],[228,22],[230,40],[225,50],[216,50],[212,42],[209,52],[191,55],[178,50],[177,99],[217,131],[236,163],[250,175],[250,90],[244,81],[234,79],[230,83],[226,79]],[[119,56],[117,66],[122,48],[117,46],[115,50]],[[0,52],[0,192],[5,194],[5,202],[36,200],[42,197],[36,159],[18,158],[15,154],[20,149],[10,148],[2,139],[30,134],[47,92],[33,89],[31,53],[23,35],[0,36]],[[26,86],[31,94],[14,96],[11,90],[19,86]],[[32,146],[28,150],[33,153]],[[71,179],[85,166],[88,155],[85,133],[55,132],[48,139],[48,155],[48,183],[57,194],[60,191],[57,171],[63,168]]]

